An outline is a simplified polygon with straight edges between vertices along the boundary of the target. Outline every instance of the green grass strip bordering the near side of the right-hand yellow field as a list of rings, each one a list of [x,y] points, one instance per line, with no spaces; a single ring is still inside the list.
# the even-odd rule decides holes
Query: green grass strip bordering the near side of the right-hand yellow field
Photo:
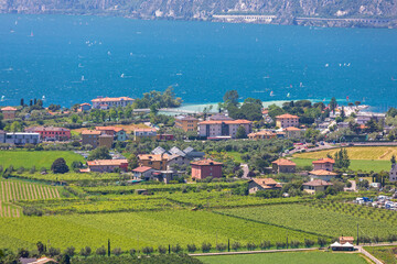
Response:
[[[301,158],[294,157],[292,161],[299,167],[311,166],[312,162],[316,158]],[[388,172],[390,170],[390,162],[389,161],[366,161],[366,160],[351,160],[351,169],[353,170],[362,170],[362,172],[371,172],[374,170],[379,173],[382,170]]]

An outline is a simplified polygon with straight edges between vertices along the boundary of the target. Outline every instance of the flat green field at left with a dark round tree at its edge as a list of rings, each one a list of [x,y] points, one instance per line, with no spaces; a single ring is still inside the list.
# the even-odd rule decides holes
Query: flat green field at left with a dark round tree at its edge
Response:
[[[0,165],[7,168],[12,165],[14,168],[35,166],[36,169],[41,167],[50,168],[52,163],[58,158],[65,158],[67,165],[72,165],[74,161],[83,162],[84,157],[67,151],[0,151]]]

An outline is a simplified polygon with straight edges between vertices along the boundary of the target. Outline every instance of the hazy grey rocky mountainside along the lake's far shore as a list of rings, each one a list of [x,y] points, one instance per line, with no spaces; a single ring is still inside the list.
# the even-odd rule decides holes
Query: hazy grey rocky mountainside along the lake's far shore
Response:
[[[182,20],[213,20],[215,14],[269,14],[275,18],[267,23],[328,26],[397,24],[397,0],[0,0],[0,12]],[[221,20],[265,22],[255,18]]]

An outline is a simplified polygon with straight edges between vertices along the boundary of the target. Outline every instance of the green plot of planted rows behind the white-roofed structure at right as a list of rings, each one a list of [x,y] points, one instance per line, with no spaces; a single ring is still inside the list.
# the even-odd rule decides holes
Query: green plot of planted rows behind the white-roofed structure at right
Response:
[[[386,220],[379,220],[379,218],[367,219],[357,215],[350,215],[347,211],[341,213],[297,204],[223,209],[217,211],[227,216],[271,223],[330,238],[342,234],[356,237],[357,223],[360,223],[361,235],[387,238],[390,233],[397,233],[395,224]]]

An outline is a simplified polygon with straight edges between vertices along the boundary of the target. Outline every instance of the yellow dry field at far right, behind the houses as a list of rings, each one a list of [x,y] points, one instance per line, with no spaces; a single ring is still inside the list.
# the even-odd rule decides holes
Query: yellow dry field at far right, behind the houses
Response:
[[[352,146],[346,147],[346,150],[351,160],[390,161],[393,155],[397,156],[397,146]],[[326,154],[334,156],[337,151],[340,151],[340,148],[299,153],[293,156],[316,160],[326,157]]]

